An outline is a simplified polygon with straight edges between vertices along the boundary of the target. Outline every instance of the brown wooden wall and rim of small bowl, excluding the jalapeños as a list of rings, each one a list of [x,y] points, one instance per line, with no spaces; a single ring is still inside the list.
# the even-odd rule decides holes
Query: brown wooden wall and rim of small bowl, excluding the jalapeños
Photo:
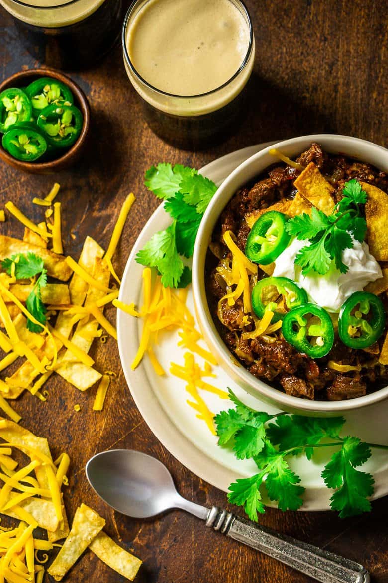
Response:
[[[56,71],[56,69],[29,69],[28,71],[19,71],[19,73],[11,75],[0,84],[0,93],[5,89],[9,89],[9,87],[26,87],[39,77],[58,79],[58,81],[65,83],[72,91],[74,105],[81,110],[83,115],[83,125],[79,138],[62,156],[48,162],[40,162],[39,160],[36,162],[23,162],[22,160],[16,160],[16,158],[6,152],[0,141],[0,158],[9,164],[9,166],[13,166],[17,170],[23,170],[23,172],[29,172],[31,174],[54,174],[69,168],[69,166],[72,166],[79,159],[90,125],[90,107],[81,87],[60,71]]]

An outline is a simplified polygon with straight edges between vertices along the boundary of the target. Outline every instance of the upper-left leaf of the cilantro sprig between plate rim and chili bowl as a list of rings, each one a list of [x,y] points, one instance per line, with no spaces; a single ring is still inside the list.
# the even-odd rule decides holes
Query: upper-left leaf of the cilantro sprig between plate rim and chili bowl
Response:
[[[158,164],[152,166],[145,173],[145,186],[154,193],[158,198],[168,199],[179,192],[180,182],[185,177],[195,175],[197,170],[185,168],[177,164],[172,167],[171,164]]]

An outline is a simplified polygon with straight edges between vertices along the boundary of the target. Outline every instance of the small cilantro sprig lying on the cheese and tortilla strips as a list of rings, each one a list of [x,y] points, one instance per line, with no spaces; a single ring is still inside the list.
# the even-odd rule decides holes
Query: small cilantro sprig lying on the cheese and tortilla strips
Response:
[[[2,268],[8,275],[14,275],[16,279],[35,278],[34,287],[27,297],[26,308],[30,314],[41,324],[46,323],[46,307],[42,302],[41,289],[47,285],[47,270],[44,267],[43,259],[34,253],[19,253],[12,255],[1,262]],[[30,332],[41,332],[42,328],[27,320],[27,329]]]

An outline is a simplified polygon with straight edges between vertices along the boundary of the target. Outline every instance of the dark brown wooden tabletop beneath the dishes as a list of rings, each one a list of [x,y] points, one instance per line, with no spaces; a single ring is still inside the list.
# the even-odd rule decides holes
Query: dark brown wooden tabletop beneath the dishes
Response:
[[[9,199],[34,219],[41,210],[33,196],[61,185],[65,251],[76,255],[91,234],[106,246],[124,197],[137,203],[127,222],[115,265],[122,273],[131,247],[158,201],[143,186],[143,174],[159,161],[200,168],[211,160],[253,143],[290,136],[331,132],[387,146],[388,20],[384,0],[338,2],[247,0],[255,23],[257,58],[250,89],[250,108],[240,131],[222,145],[203,152],[183,152],[166,145],[149,130],[117,45],[95,68],[74,73],[92,107],[88,152],[79,166],[54,177],[32,177],[0,166],[0,208]],[[22,68],[40,65],[23,51],[12,19],[0,11],[1,79]],[[69,237],[70,227],[76,240]],[[16,220],[2,232],[22,229]],[[114,310],[107,312],[114,320]],[[70,521],[81,501],[106,518],[106,531],[144,561],[138,583],[307,583],[308,577],[275,560],[226,540],[180,511],[149,522],[124,518],[109,510],[87,484],[84,466],[91,455],[109,448],[133,448],[165,462],[183,496],[205,505],[225,505],[225,494],[188,472],[156,440],[136,409],[120,368],[115,341],[96,341],[92,357],[98,370],[115,370],[104,411],[92,412],[95,389],[81,394],[60,378],[47,384],[41,403],[24,395],[15,408],[30,430],[49,439],[53,455],[63,449],[72,459],[65,502]],[[73,406],[80,404],[80,412]],[[368,420],[366,416],[366,422]],[[388,502],[372,504],[372,513],[340,520],[331,512],[268,510],[263,524],[344,554],[366,565],[375,583],[388,582]],[[67,575],[68,583],[113,583],[122,578],[87,552]]]

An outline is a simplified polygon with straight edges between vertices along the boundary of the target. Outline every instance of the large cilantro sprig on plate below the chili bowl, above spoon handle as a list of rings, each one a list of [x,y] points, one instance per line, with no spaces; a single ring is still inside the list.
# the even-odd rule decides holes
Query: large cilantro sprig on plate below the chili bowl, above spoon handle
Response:
[[[220,447],[233,449],[237,459],[251,458],[258,472],[230,484],[228,500],[243,506],[251,520],[265,512],[262,494],[277,501],[280,510],[298,510],[303,504],[300,476],[287,462],[289,456],[304,454],[311,460],[316,448],[337,447],[322,472],[328,488],[335,490],[330,498],[332,510],[340,518],[371,510],[368,497],[373,494],[373,477],[361,472],[361,466],[371,456],[371,447],[358,437],[340,437],[344,417],[304,417],[255,411],[244,405],[229,389],[235,409],[222,411],[215,417]]]

